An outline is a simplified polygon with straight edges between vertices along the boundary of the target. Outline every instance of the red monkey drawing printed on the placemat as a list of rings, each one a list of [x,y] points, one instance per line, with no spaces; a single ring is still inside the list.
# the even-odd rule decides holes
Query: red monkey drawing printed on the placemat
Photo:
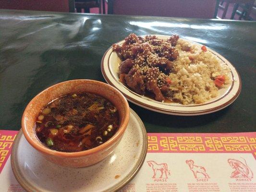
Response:
[[[244,158],[242,158],[242,159],[244,159]],[[231,178],[248,178],[248,179],[253,178],[253,172],[247,166],[245,159],[244,159],[244,162],[245,162],[245,164],[237,159],[228,159],[228,163],[229,163],[230,167],[235,169],[230,176]]]

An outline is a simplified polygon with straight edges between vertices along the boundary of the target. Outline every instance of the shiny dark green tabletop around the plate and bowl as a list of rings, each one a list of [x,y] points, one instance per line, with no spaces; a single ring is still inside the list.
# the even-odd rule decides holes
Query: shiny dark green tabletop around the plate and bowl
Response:
[[[256,131],[256,22],[0,10],[0,129],[19,130],[27,103],[66,80],[105,82],[105,51],[130,33],[179,34],[220,53],[238,70],[242,91],[218,112],[193,117],[130,107],[147,132]]]

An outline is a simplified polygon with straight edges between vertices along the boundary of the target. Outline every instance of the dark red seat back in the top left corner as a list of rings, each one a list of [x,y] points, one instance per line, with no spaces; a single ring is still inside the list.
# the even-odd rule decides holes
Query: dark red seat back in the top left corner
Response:
[[[0,9],[69,12],[68,0],[0,0]]]

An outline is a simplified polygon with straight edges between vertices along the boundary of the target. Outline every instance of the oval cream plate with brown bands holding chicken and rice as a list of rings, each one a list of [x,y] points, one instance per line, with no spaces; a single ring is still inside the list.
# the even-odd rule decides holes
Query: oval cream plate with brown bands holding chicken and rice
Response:
[[[170,36],[161,36],[156,35],[159,38],[167,39]],[[189,40],[188,40],[189,41]],[[124,40],[118,42],[117,44],[121,45]],[[192,42],[192,41],[190,41]],[[198,44],[196,42],[193,42]],[[199,44],[201,45],[201,44]],[[207,113],[212,113],[218,111],[222,108],[229,106],[240,94],[241,91],[241,79],[236,71],[236,69],[232,66],[232,64],[226,60],[224,57],[219,55],[219,53],[213,51],[210,48],[207,48],[210,52],[216,55],[220,60],[226,63],[231,69],[231,77],[233,79],[232,84],[230,84],[227,88],[219,89],[219,96],[210,99],[208,102],[204,104],[190,104],[190,105],[182,105],[180,103],[162,103],[158,102],[154,99],[151,99],[146,96],[141,96],[124,84],[119,81],[118,72],[119,72],[119,63],[121,60],[118,58],[117,54],[113,51],[112,47],[110,47],[106,53],[104,54],[101,60],[101,72],[107,81],[108,84],[116,87],[122,94],[132,103],[141,106],[143,108],[147,108],[153,111],[157,111],[160,113],[166,113],[171,115],[182,115],[182,116],[191,116],[191,115],[203,115]]]

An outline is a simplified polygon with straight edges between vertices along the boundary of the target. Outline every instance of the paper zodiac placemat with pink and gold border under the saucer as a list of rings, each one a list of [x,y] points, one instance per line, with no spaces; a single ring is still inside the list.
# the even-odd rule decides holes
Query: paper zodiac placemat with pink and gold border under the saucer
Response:
[[[17,133],[0,130],[0,192],[24,191],[9,158]],[[256,192],[256,132],[148,133],[147,139],[146,160],[121,192]]]

